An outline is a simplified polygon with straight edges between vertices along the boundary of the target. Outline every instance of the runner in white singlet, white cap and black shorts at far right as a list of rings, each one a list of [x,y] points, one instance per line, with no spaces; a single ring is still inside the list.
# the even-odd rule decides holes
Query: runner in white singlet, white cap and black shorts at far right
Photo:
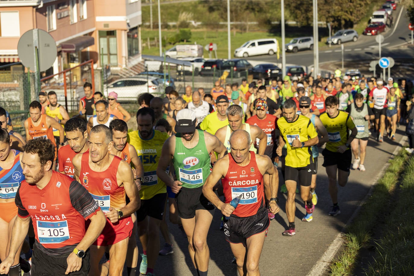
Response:
[[[374,103],[375,131],[377,132],[377,141],[383,142],[385,130],[385,115],[387,113],[387,94],[388,88],[383,86],[382,79],[377,79],[377,87],[369,92],[369,100]],[[378,129],[379,128],[379,129]]]

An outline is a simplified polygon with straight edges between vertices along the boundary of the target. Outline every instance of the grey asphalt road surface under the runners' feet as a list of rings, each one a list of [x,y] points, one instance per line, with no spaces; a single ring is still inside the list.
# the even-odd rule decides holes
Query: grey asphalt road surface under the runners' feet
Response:
[[[359,209],[375,181],[384,173],[388,160],[392,158],[393,153],[397,152],[400,143],[404,147],[407,144],[405,126],[397,129],[395,141],[385,138],[383,143],[378,143],[373,138],[371,136],[368,141],[366,171],[351,169],[347,186],[339,187],[341,214],[338,216],[328,216],[332,202],[327,190],[328,181],[325,168],[322,166],[322,154],[318,159],[316,188],[318,204],[315,206],[313,221],[301,221],[306,211],[300,196],[296,194],[296,235],[293,237],[282,236],[282,232],[287,228],[286,194],[278,193],[281,211],[276,214],[274,220],[270,221],[269,232],[260,257],[261,275],[328,275],[326,268],[342,245],[341,237],[344,227]],[[279,183],[279,187],[281,184]],[[209,275],[236,276],[236,265],[231,264],[233,254],[225,240],[223,231],[219,230],[220,219],[221,213],[216,209],[207,236],[210,250]],[[174,253],[159,256],[154,273],[159,276],[196,276],[197,272],[188,254],[187,239],[183,237],[183,233],[177,225],[168,223],[168,228],[171,233]],[[164,244],[161,235],[160,244],[161,247]],[[139,242],[138,248],[141,254],[142,247]]]

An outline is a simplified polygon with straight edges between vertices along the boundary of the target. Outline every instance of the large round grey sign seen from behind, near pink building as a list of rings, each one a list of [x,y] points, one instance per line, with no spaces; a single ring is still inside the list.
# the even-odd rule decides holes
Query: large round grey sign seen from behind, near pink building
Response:
[[[53,37],[41,29],[26,31],[17,43],[19,59],[25,67],[36,71],[36,50],[39,56],[39,71],[48,70],[58,53]]]

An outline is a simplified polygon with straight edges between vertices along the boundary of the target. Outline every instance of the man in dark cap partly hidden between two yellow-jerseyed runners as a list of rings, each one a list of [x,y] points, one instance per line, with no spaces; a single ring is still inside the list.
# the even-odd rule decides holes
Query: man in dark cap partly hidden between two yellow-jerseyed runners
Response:
[[[316,87],[316,89],[318,89],[318,86]],[[318,203],[318,196],[315,192],[316,177],[318,175],[318,146],[328,142],[328,133],[326,132],[326,128],[323,126],[319,117],[315,114],[310,113],[310,104],[312,100],[309,97],[302,97],[299,100],[299,102],[301,103],[299,106],[299,108],[301,109],[301,115],[308,117],[310,119],[310,122],[312,122],[316,132],[318,133],[318,144],[310,147],[313,156],[312,181],[310,182],[310,193],[312,194],[312,203],[313,205],[316,205]],[[323,106],[325,107],[325,101],[323,102]],[[306,219],[306,221],[309,221],[309,217]]]

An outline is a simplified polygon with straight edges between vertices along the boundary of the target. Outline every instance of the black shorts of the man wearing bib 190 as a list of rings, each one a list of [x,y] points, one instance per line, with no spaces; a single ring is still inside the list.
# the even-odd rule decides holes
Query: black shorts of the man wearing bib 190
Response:
[[[257,214],[248,217],[231,215],[229,221],[224,223],[224,235],[231,243],[243,243],[246,247],[247,239],[253,235],[267,232],[270,220],[266,208],[258,210]]]

